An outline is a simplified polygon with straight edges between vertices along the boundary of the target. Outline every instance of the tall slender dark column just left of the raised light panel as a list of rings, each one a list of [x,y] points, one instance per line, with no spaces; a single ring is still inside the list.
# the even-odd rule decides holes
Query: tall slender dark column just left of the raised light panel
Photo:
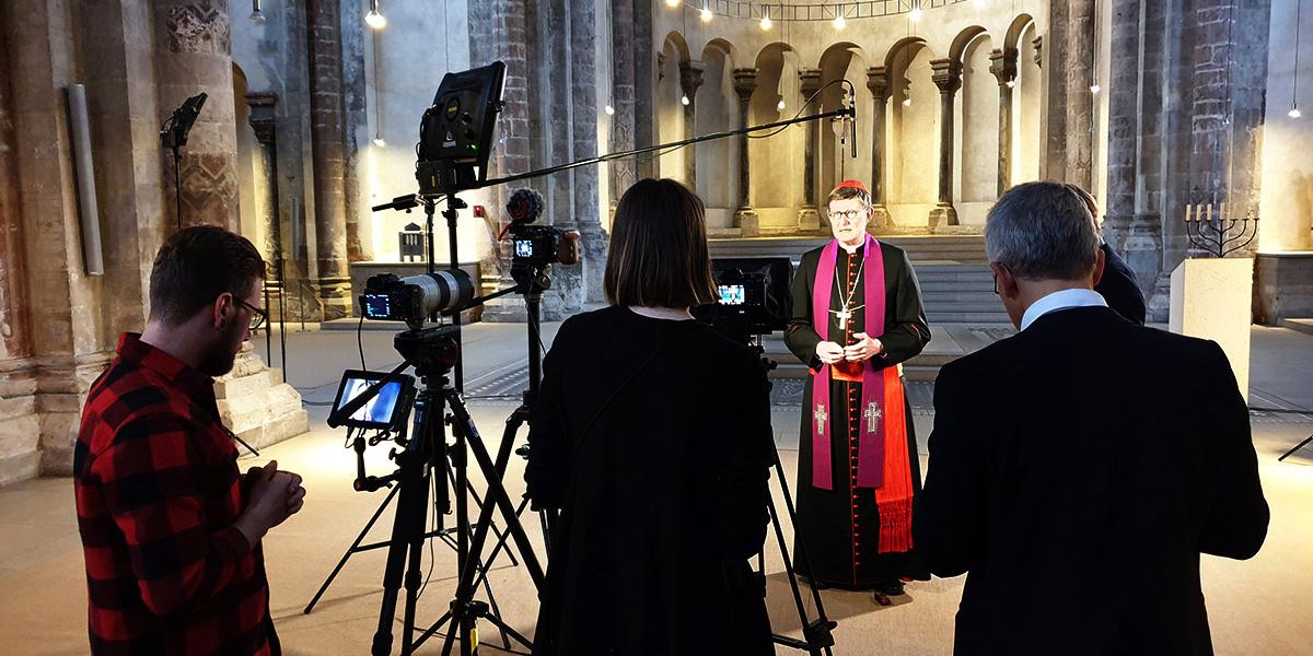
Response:
[[[315,285],[326,321],[351,315],[348,243],[355,244],[351,252],[360,252],[358,235],[348,231],[347,222],[340,8],[341,4],[334,0],[306,0],[315,261],[319,266]],[[355,222],[351,224],[355,226]]]

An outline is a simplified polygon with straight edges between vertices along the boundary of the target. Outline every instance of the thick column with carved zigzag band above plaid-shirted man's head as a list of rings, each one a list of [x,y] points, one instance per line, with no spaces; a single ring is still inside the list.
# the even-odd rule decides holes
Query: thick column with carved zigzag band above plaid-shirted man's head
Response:
[[[173,112],[190,96],[209,94],[183,147],[183,224],[222,226],[238,231],[238,134],[232,98],[232,31],[227,3],[154,0],[155,70],[159,112]],[[161,117],[163,118],[163,117]],[[173,160],[164,152],[168,226]]]

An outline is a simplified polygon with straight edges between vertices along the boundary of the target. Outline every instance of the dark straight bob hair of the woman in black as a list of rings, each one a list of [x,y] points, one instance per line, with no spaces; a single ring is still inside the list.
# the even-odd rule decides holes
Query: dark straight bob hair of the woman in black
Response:
[[[674,180],[639,180],[616,206],[604,286],[617,306],[716,300],[702,201]]]

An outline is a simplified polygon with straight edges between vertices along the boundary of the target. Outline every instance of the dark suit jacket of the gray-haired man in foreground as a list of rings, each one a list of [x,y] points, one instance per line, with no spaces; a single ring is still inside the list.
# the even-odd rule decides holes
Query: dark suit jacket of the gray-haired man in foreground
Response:
[[[957,653],[1209,653],[1199,555],[1253,556],[1267,518],[1215,342],[1070,308],[935,383],[914,541],[968,573]]]

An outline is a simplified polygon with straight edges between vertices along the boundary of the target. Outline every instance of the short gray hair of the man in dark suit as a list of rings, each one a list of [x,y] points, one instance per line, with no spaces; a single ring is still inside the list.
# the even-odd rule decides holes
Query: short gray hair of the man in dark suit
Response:
[[[1016,185],[985,218],[985,255],[1018,278],[1079,279],[1094,270],[1098,252],[1086,201],[1062,182]]]

